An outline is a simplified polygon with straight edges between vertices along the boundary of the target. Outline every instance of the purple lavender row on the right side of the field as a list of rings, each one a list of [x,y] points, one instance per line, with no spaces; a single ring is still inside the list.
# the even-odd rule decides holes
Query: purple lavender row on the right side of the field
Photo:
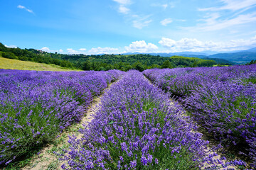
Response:
[[[256,64],[143,72],[188,108],[193,119],[256,166]]]

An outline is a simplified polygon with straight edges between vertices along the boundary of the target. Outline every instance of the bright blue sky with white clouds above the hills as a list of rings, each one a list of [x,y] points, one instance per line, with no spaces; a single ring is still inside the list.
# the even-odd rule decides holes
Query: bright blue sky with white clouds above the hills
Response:
[[[0,42],[65,54],[256,47],[255,0],[12,0]]]

